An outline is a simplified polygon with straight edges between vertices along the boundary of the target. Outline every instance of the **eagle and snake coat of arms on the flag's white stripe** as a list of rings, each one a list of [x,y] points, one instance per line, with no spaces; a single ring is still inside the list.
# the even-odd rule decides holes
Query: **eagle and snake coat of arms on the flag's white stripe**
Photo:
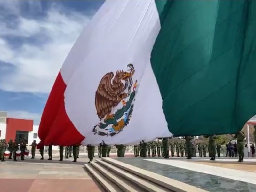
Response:
[[[94,126],[94,134],[114,136],[129,124],[138,81],[132,79],[135,72],[133,64],[129,63],[127,67],[127,71],[118,70],[116,75],[109,72],[100,80],[95,94],[100,123]]]

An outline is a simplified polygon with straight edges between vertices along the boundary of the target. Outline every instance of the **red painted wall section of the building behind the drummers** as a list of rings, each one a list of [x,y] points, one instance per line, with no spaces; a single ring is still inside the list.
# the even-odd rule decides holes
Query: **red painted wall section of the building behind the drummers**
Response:
[[[6,141],[10,139],[15,139],[16,131],[33,131],[33,120],[27,119],[15,119],[7,118],[6,119]]]

